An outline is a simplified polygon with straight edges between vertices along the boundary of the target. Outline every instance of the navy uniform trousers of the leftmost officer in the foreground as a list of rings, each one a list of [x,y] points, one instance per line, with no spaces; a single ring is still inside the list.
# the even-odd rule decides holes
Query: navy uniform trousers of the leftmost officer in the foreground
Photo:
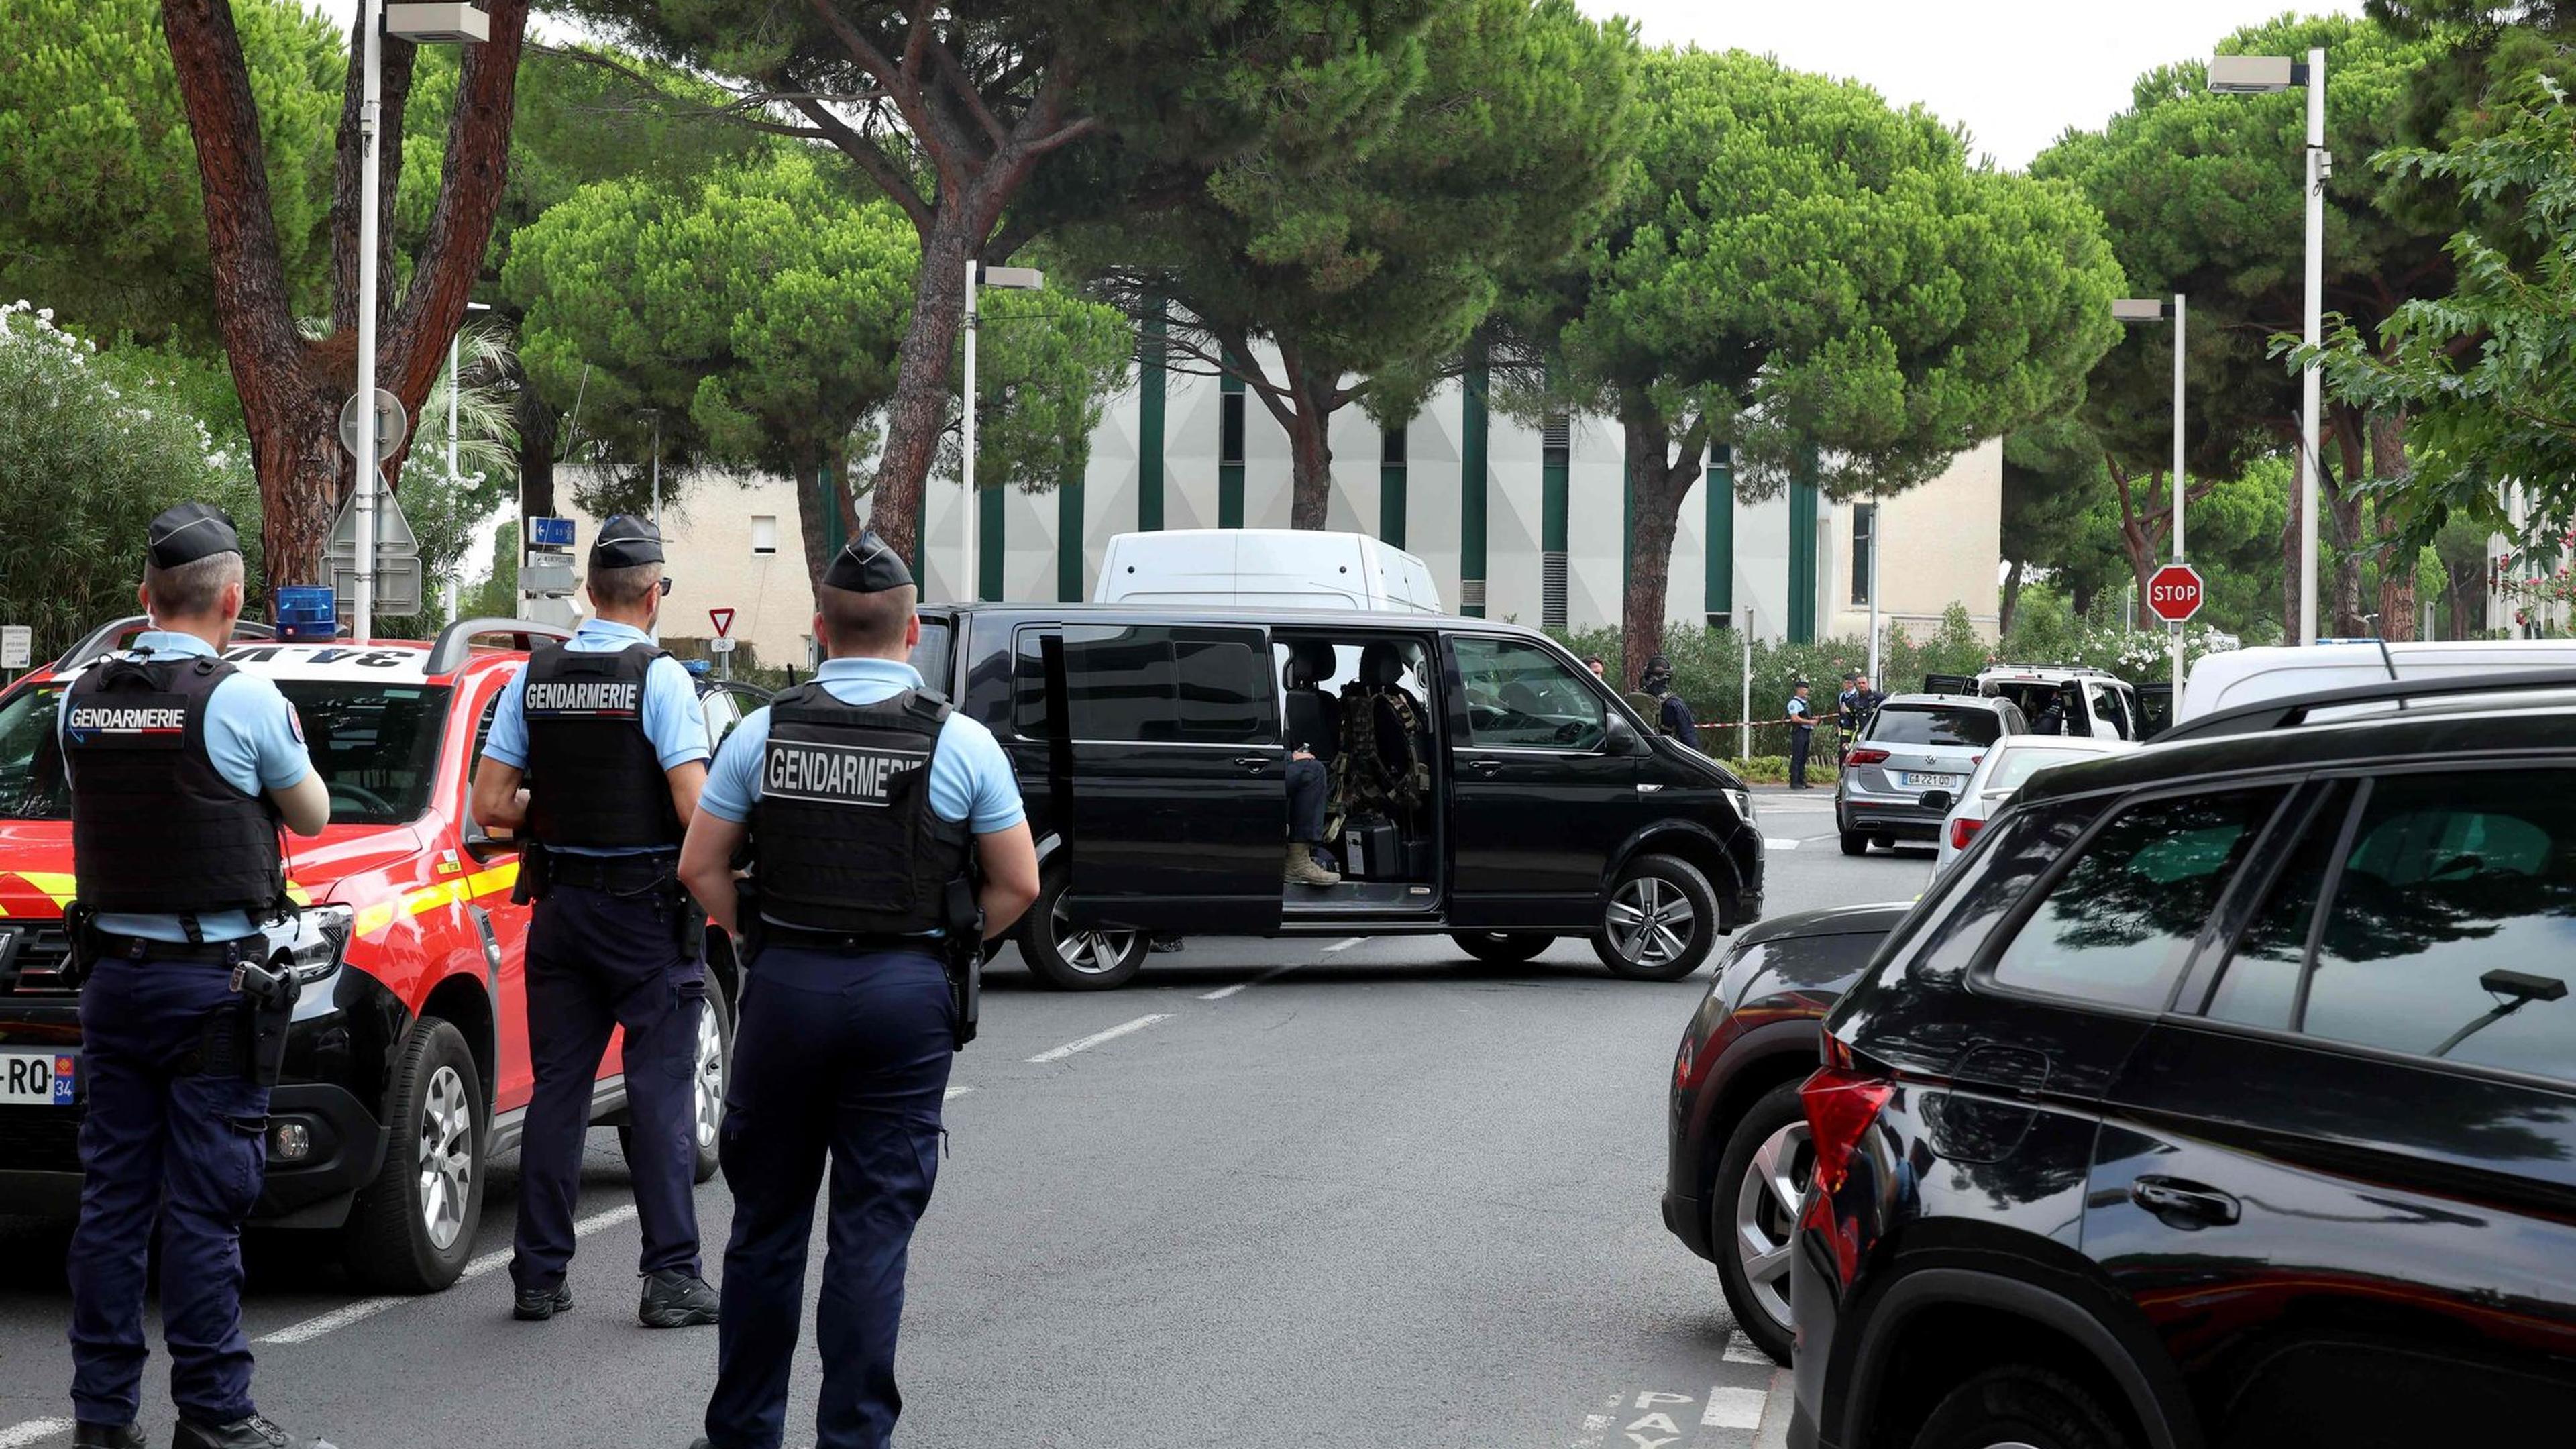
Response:
[[[232,967],[106,959],[80,990],[80,1227],[72,1230],[72,1413],[131,1423],[144,1382],[144,1279],[162,1235],[170,1400],[247,1418],[242,1217],[268,1173],[268,1088],[237,1062],[188,1073],[206,1018],[240,1011]]]

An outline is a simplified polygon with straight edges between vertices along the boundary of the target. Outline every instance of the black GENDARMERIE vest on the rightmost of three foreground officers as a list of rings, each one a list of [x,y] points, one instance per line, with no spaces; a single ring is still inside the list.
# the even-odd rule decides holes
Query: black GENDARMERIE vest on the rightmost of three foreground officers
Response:
[[[842,704],[819,683],[770,699],[752,807],[760,918],[832,936],[920,936],[945,920],[974,835],[930,810],[948,701],[904,691]]]

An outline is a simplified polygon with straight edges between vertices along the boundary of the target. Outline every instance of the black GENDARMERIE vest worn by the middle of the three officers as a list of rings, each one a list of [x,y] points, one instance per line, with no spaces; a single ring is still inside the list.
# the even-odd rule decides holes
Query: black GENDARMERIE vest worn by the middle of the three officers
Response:
[[[528,655],[528,833],[546,846],[677,846],[662,753],[644,732],[644,673],[662,650]]]

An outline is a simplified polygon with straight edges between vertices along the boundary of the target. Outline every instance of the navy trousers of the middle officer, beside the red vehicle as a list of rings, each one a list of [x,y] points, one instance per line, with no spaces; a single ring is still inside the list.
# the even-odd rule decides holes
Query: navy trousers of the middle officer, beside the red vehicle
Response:
[[[608,1029],[626,1029],[626,1163],[644,1258],[636,1271],[698,1274],[696,1065],[706,964],[680,954],[675,890],[613,895],[559,884],[528,923],[528,1098],[510,1279],[544,1292],[572,1263],[590,1088]]]

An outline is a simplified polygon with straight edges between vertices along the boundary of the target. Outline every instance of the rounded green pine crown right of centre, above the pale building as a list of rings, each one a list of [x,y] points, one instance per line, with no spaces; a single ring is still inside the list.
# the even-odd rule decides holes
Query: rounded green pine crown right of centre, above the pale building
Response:
[[[1736,446],[1775,490],[1826,449],[1896,492],[2063,407],[2120,273],[2066,186],[1968,165],[1922,108],[1744,52],[1651,52],[1628,199],[1540,299],[1579,394]]]

